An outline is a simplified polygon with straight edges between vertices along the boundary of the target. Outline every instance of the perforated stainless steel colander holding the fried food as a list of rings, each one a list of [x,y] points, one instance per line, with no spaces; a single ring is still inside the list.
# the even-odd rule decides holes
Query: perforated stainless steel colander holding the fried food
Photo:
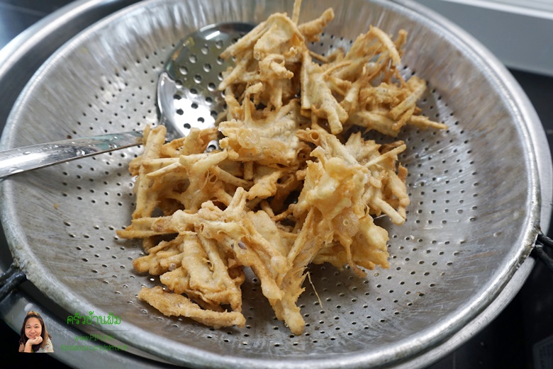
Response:
[[[79,33],[40,68],[9,117],[1,147],[143,129],[157,122],[155,88],[183,35],[223,21],[259,23],[293,1],[148,0]],[[333,6],[317,52],[348,47],[369,24],[408,30],[403,73],[428,80],[424,113],[447,132],[408,129],[412,204],[389,229],[389,269],[359,279],[310,268],[292,336],[250,276],[245,329],[210,329],[167,318],[136,295],[158,281],[133,271],[142,249],[116,238],[133,210],[127,171],[140,149],[13,176],[1,183],[1,215],[18,268],[74,314],[121,317],[109,331],[179,365],[211,368],[369,368],[408,361],[441,344],[490,305],[539,232],[540,169],[530,130],[540,125],[513,79],[461,30],[410,1],[303,1],[301,19]],[[208,73],[208,72],[206,72]],[[206,78],[199,78],[199,81]],[[313,290],[314,288],[314,290]],[[316,293],[315,293],[316,290]]]

